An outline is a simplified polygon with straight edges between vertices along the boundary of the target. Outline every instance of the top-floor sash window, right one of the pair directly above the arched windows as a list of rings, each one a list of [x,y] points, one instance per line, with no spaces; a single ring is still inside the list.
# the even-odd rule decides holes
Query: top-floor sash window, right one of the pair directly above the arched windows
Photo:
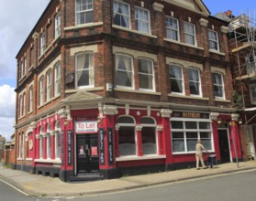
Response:
[[[141,14],[142,12],[142,14]],[[146,16],[143,18],[143,16]],[[136,30],[147,34],[151,33],[150,30],[150,11],[148,9],[135,6],[135,25]],[[141,27],[142,26],[142,27]]]

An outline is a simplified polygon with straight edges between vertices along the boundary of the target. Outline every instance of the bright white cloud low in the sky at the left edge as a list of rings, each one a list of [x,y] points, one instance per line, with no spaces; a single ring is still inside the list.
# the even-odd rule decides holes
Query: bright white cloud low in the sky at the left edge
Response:
[[[16,92],[9,85],[0,86],[0,135],[9,140],[14,133]]]

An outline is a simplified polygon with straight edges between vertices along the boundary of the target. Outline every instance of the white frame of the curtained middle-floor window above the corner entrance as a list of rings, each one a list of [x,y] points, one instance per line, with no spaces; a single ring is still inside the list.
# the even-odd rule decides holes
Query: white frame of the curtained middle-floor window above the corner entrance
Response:
[[[79,58],[84,57],[84,61],[87,62],[86,58],[89,59],[88,68],[86,69],[78,69]],[[84,67],[84,63],[83,63]],[[78,72],[81,72],[81,76],[83,76],[83,72],[88,71],[88,84],[85,85],[78,85],[78,76],[80,75]],[[77,89],[84,89],[84,88],[93,88],[95,87],[95,55],[94,52],[81,52],[75,54],[75,87]]]

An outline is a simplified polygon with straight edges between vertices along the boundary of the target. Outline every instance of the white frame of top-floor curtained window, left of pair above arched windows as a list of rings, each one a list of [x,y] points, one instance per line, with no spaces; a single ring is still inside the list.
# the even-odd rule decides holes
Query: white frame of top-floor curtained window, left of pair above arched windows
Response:
[[[128,6],[128,11],[127,11],[127,15],[123,14],[123,13],[120,13],[118,12],[118,9],[120,8],[124,8],[125,6]],[[122,11],[123,12],[123,11]],[[116,25],[116,26],[122,26],[122,27],[126,27],[126,28],[129,28],[130,29],[130,7],[129,7],[129,4],[128,3],[125,3],[125,2],[121,2],[121,1],[117,1],[117,0],[114,0],[113,2],[113,13],[114,13],[114,17],[113,17],[113,24]],[[125,23],[127,24],[126,26],[123,26],[123,25],[117,25],[115,24],[115,17],[116,15],[120,16],[120,17],[123,17],[124,20],[125,20]]]

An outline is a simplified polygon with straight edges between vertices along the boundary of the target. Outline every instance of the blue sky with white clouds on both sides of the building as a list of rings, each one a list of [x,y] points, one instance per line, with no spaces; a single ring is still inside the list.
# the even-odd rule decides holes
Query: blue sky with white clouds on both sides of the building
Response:
[[[0,0],[4,1],[4,0]],[[71,1],[71,0],[70,0]],[[12,0],[0,6],[0,135],[10,140],[15,132],[17,52],[50,0]],[[231,10],[234,16],[255,17],[256,0],[204,0],[214,16]]]

